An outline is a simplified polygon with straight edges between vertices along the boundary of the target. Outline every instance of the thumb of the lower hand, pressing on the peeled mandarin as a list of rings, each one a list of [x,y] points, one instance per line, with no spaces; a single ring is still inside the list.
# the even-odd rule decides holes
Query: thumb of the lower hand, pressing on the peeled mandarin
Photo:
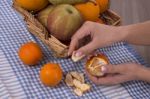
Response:
[[[105,65],[101,67],[103,73],[124,73],[126,66],[122,65]]]

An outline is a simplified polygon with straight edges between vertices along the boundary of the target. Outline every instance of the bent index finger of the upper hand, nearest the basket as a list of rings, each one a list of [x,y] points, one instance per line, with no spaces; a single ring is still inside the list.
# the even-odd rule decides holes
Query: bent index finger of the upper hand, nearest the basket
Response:
[[[84,38],[85,36],[89,35],[89,27],[88,25],[83,25],[72,37],[70,46],[69,46],[69,51],[68,51],[68,55],[71,55],[72,52],[75,50],[76,46],[78,45],[78,41],[82,38]]]

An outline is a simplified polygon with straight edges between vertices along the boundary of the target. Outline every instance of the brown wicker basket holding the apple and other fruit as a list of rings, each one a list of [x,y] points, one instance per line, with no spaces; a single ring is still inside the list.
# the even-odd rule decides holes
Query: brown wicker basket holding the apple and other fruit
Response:
[[[44,42],[49,49],[53,51],[54,56],[68,56],[68,46],[60,42],[53,35],[50,35],[47,29],[34,17],[33,14],[17,5],[15,0],[13,1],[13,8],[22,15],[30,33],[41,39],[42,42]],[[101,18],[108,25],[118,26],[121,23],[120,17],[110,10],[103,13]]]

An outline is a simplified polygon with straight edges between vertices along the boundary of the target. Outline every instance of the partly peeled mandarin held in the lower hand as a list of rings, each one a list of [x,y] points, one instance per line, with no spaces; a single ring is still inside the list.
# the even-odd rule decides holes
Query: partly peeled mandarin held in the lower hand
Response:
[[[104,54],[92,56],[86,62],[86,70],[93,76],[104,76],[101,72],[101,66],[109,64],[108,58]]]

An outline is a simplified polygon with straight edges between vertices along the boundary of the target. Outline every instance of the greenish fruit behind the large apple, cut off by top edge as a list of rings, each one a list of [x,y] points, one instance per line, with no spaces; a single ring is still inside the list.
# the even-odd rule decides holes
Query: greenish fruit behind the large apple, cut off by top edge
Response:
[[[53,5],[84,3],[88,0],[49,0]]]

